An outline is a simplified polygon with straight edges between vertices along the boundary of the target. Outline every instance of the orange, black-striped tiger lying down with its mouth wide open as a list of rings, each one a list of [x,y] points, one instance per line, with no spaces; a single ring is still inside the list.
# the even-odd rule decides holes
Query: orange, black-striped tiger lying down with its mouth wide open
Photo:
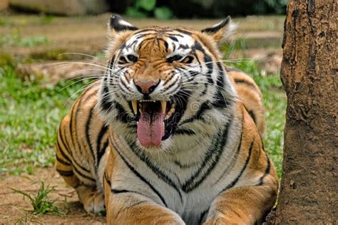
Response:
[[[209,28],[108,22],[107,66],[63,118],[56,170],[108,224],[260,224],[278,179],[262,93]]]

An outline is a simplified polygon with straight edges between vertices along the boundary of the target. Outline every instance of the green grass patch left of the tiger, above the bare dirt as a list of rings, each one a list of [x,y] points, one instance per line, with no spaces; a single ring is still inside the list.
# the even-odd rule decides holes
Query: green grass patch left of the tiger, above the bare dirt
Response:
[[[34,80],[20,80],[6,66],[0,68],[0,80],[0,174],[51,167],[58,124],[86,82],[41,88]]]

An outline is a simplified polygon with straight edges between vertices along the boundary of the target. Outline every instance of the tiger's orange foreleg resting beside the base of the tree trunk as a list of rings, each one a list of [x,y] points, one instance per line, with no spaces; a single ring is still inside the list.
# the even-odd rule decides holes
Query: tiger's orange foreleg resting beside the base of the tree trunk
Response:
[[[260,224],[275,204],[277,182],[235,187],[220,193],[212,202],[205,225]]]

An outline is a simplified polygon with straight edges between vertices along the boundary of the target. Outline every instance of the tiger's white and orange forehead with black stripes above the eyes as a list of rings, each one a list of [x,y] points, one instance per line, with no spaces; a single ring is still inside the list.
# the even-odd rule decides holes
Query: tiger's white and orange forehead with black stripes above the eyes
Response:
[[[122,46],[123,53],[140,54],[140,49],[144,45],[151,46],[154,50],[163,45],[168,53],[167,56],[175,54],[188,54],[195,43],[191,35],[193,32],[175,28],[144,28],[135,31]]]

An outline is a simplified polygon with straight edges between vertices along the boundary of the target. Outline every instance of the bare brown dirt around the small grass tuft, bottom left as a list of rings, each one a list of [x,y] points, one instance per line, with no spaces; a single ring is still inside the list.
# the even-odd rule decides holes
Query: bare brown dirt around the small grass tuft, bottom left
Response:
[[[43,181],[55,190],[48,197],[55,200],[59,209],[66,211],[64,215],[45,214],[33,216],[29,199],[14,192],[11,188],[27,193],[36,193]],[[53,168],[36,169],[34,174],[21,174],[16,177],[4,177],[0,181],[0,224],[104,224],[103,216],[89,215],[78,202],[75,190],[66,186],[63,179]]]

